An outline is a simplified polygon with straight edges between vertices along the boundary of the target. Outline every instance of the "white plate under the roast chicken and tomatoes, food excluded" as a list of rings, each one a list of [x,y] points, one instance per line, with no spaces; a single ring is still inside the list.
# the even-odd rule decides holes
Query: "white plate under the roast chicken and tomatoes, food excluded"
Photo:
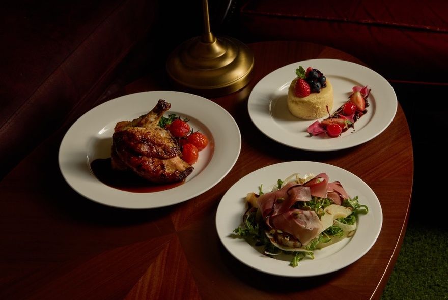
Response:
[[[169,113],[182,118],[209,139],[199,153],[194,171],[184,184],[169,190],[132,193],[101,183],[90,164],[109,158],[114,127],[148,113],[159,99],[171,103]],[[215,186],[234,166],[241,149],[241,134],[232,116],[216,103],[187,93],[152,91],[123,96],[105,102],[81,116],[67,131],[59,150],[59,166],[67,183],[82,196],[121,208],[168,206],[198,196]]]

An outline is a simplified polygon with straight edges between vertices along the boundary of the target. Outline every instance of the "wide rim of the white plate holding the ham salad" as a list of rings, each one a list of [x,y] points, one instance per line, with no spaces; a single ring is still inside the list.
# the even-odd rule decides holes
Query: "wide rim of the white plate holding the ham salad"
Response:
[[[297,171],[297,170],[300,170],[300,168],[302,168],[302,167],[318,169],[319,172],[327,170],[327,174],[337,172],[340,174],[345,174],[346,176],[349,176],[351,178],[356,178],[357,184],[359,184],[360,187],[364,190],[364,193],[367,193],[367,194],[369,194],[369,196],[372,197],[372,199],[370,199],[370,200],[366,199],[365,201],[360,201],[361,204],[368,205],[369,213],[366,215],[360,215],[359,222],[367,222],[367,220],[372,219],[372,218],[374,218],[375,221],[373,224],[374,226],[369,226],[369,227],[367,227],[367,226],[361,227],[360,226],[359,227],[359,228],[363,228],[362,231],[368,232],[370,234],[370,236],[369,236],[370,241],[367,244],[364,242],[362,243],[363,249],[359,250],[358,255],[356,257],[351,257],[351,259],[349,259],[341,264],[338,264],[339,262],[341,262],[341,260],[338,260],[338,263],[331,262],[331,260],[328,257],[331,257],[333,255],[339,256],[341,251],[337,251],[336,253],[331,254],[328,257],[324,257],[322,259],[322,261],[320,262],[321,264],[329,262],[329,267],[326,269],[322,269],[321,267],[318,267],[316,269],[310,270],[309,266],[312,265],[316,260],[311,260],[311,259],[306,260],[306,258],[303,261],[300,261],[299,265],[296,268],[293,268],[293,267],[289,266],[289,262],[279,261],[279,260],[277,260],[275,262],[275,259],[267,258],[267,257],[265,259],[265,256],[263,256],[263,258],[260,258],[260,257],[262,257],[262,255],[258,252],[256,253],[255,249],[251,248],[251,246],[246,241],[244,241],[244,239],[229,237],[229,235],[232,234],[231,230],[237,228],[241,224],[241,221],[239,221],[240,223],[235,223],[235,224],[230,224],[230,223],[225,224],[225,222],[226,222],[225,220],[230,220],[228,222],[232,222],[232,220],[234,220],[234,219],[236,220],[237,218],[239,218],[239,220],[241,220],[242,214],[244,211],[243,203],[241,203],[240,207],[236,207],[235,201],[238,201],[238,199],[235,199],[235,198],[237,198],[237,197],[232,199],[234,202],[232,202],[232,200],[229,200],[229,197],[231,197],[231,195],[233,193],[235,193],[236,190],[240,189],[241,186],[246,187],[250,184],[253,184],[253,183],[255,183],[255,181],[257,181],[258,185],[263,184],[264,190],[270,189],[277,181],[278,176],[283,176],[283,177],[279,177],[279,178],[286,178],[287,176],[289,176],[293,173],[293,172],[288,172],[288,171],[284,171],[284,170],[295,169]],[[285,173],[280,175],[280,172],[282,172],[282,173],[285,172]],[[304,175],[306,173],[309,173],[309,169],[304,170],[304,172],[302,174]],[[318,171],[313,172],[313,173],[318,174]],[[267,183],[266,181],[263,181],[267,177],[269,177],[269,179],[267,179],[267,180],[271,180],[272,182]],[[329,177],[330,177],[331,181],[339,180],[339,178],[334,178],[332,176],[332,174],[330,174]],[[343,183],[343,186],[344,186],[344,183]],[[256,190],[254,190],[255,188],[256,187],[254,186],[253,190],[250,190],[250,187],[248,187],[245,192],[246,193],[251,192],[251,191],[256,192]],[[350,194],[351,190],[349,190],[347,192]],[[240,198],[243,198],[244,196],[245,196],[245,194],[242,195]],[[239,200],[241,200],[241,199],[239,199]],[[374,204],[374,205],[372,205],[372,204]],[[234,209],[234,211],[232,211],[233,215],[227,215],[227,214],[224,215],[223,214],[225,212],[226,205],[232,206],[232,208]],[[237,209],[239,209],[239,211],[237,211]],[[371,215],[369,216],[369,214],[371,214]],[[366,216],[368,216],[368,217],[366,217]],[[365,221],[363,221],[363,220],[365,220]],[[239,179],[239,181],[237,181],[226,192],[226,194],[223,195],[221,201],[218,204],[218,208],[216,211],[216,217],[215,217],[215,225],[216,225],[216,230],[217,230],[219,240],[220,240],[221,244],[225,247],[225,249],[235,259],[237,259],[241,263],[255,269],[256,271],[260,271],[262,273],[266,273],[266,274],[270,274],[270,275],[281,276],[281,277],[312,277],[312,276],[324,275],[324,274],[338,271],[338,270],[356,262],[358,259],[360,259],[362,256],[364,256],[376,243],[378,236],[382,229],[382,223],[383,223],[383,213],[382,213],[382,208],[381,208],[379,199],[376,196],[376,194],[374,193],[374,191],[364,181],[362,181],[361,178],[359,178],[355,174],[353,174],[341,167],[334,166],[334,165],[327,164],[327,163],[320,163],[320,162],[313,162],[313,161],[281,162],[281,163],[276,163],[276,164],[265,166],[263,168],[257,169],[255,171],[247,174],[243,178]],[[361,223],[361,225],[362,225],[362,223]],[[233,229],[231,229],[232,227],[233,227]],[[359,228],[358,228],[358,230],[359,230]],[[372,231],[372,230],[375,230],[375,231]],[[357,234],[355,234],[352,238],[354,238],[356,236],[357,236]],[[357,240],[355,242],[358,243],[358,239],[360,238],[362,240],[363,237],[364,237],[364,235],[361,235],[360,237],[358,235]],[[347,244],[344,245],[343,248],[355,247],[356,244],[352,244],[350,246],[350,243],[352,243],[353,241],[348,240],[346,242]],[[343,243],[343,242],[340,242],[340,243]],[[335,244],[335,245],[337,245],[337,244]],[[249,252],[251,252],[251,253],[249,253]],[[318,253],[315,252],[315,257],[317,257],[317,255],[318,255]],[[257,257],[255,257],[255,256],[257,256]],[[250,260],[257,259],[258,262],[260,262],[262,259],[264,259],[263,263],[265,265],[254,265],[254,263],[245,261],[245,258],[248,258],[248,257]],[[267,259],[269,259],[269,260],[267,260]],[[272,262],[272,261],[274,261],[274,262]],[[303,265],[304,263],[306,265]],[[303,266],[302,268],[301,268],[301,265]],[[281,270],[281,271],[279,271],[279,270]]]

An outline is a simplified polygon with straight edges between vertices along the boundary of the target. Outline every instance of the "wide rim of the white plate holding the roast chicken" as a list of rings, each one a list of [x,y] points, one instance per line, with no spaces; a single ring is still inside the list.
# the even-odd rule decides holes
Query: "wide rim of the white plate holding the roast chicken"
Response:
[[[152,109],[159,99],[164,99],[167,102],[172,104],[171,111],[177,110],[177,107],[185,107],[186,103],[195,103],[200,104],[199,107],[206,106],[208,112],[210,109],[213,110],[213,115],[218,115],[220,117],[221,122],[211,123],[212,117],[211,114],[207,114],[201,118],[195,116],[199,121],[204,123],[205,119],[210,119],[210,121],[206,121],[204,125],[212,134],[212,141],[214,144],[213,153],[207,163],[207,166],[201,170],[200,173],[195,175],[190,181],[187,181],[180,185],[176,186],[169,190],[151,192],[151,193],[132,193],[123,190],[118,190],[113,187],[109,187],[103,183],[101,183],[92,173],[89,166],[89,158],[88,158],[88,139],[98,138],[94,132],[98,132],[101,130],[105,130],[110,133],[113,131],[113,128],[103,128],[102,126],[113,123],[114,118],[120,119],[119,116],[111,116],[110,118],[104,117],[104,120],[93,120],[92,118],[97,116],[100,113],[104,113],[108,109],[113,108],[123,109],[120,113],[123,117],[126,117],[126,114],[138,114],[142,107],[147,104],[146,111]],[[198,113],[196,105],[195,112]],[[190,109],[190,108],[188,108]],[[167,112],[169,113],[170,110]],[[191,111],[194,109],[191,108]],[[118,112],[114,113],[115,115],[119,114]],[[191,115],[191,113],[189,113]],[[216,117],[216,116],[215,116]],[[88,122],[92,122],[94,125],[94,129],[86,133],[85,136],[79,136],[79,130],[82,126],[87,126]],[[91,123],[89,123],[91,124]],[[114,124],[115,126],[115,124]],[[219,132],[219,135],[217,134]],[[221,134],[223,133],[223,134]],[[104,134],[104,132],[102,133]],[[79,139],[82,142],[82,145],[73,145],[73,141],[75,139]],[[219,146],[221,144],[229,144],[228,141],[232,140],[232,146],[226,148],[226,151],[220,149]],[[210,143],[209,143],[210,144]],[[70,148],[71,147],[71,148]],[[73,148],[76,147],[76,148]],[[67,182],[67,184],[75,190],[81,196],[92,200],[94,202],[117,207],[117,208],[128,208],[128,209],[149,209],[149,208],[158,208],[165,207],[174,204],[178,204],[191,198],[194,198],[207,190],[214,187],[218,184],[223,177],[225,177],[231,169],[234,167],[241,151],[241,133],[235,119],[230,115],[230,113],[218,105],[217,103],[206,99],[204,97],[185,93],[185,92],[177,92],[177,91],[146,91],[146,92],[138,92],[132,93],[128,95],[124,95],[121,97],[117,97],[111,100],[108,100],[98,106],[92,108],[91,110],[84,113],[80,116],[67,130],[65,133],[59,147],[58,152],[58,164],[60,171],[62,173],[63,178]],[[75,158],[71,159],[67,156],[69,154],[73,154]],[[225,165],[220,163],[220,159],[225,161]],[[194,166],[194,165],[193,165]],[[215,166],[219,173],[216,172]],[[208,167],[208,172],[207,172]],[[79,168],[73,172],[74,168]],[[213,169],[213,170],[212,170]],[[194,172],[194,171],[193,171]],[[81,176],[85,176],[85,178],[81,178]],[[198,182],[198,179],[204,179],[207,184],[204,183],[198,184],[197,187],[193,188],[193,184]],[[148,199],[149,195],[149,199]],[[152,198],[169,198],[166,202],[154,203],[155,201],[151,201]],[[173,200],[173,198],[175,198]],[[123,200],[122,200],[123,199]]]

